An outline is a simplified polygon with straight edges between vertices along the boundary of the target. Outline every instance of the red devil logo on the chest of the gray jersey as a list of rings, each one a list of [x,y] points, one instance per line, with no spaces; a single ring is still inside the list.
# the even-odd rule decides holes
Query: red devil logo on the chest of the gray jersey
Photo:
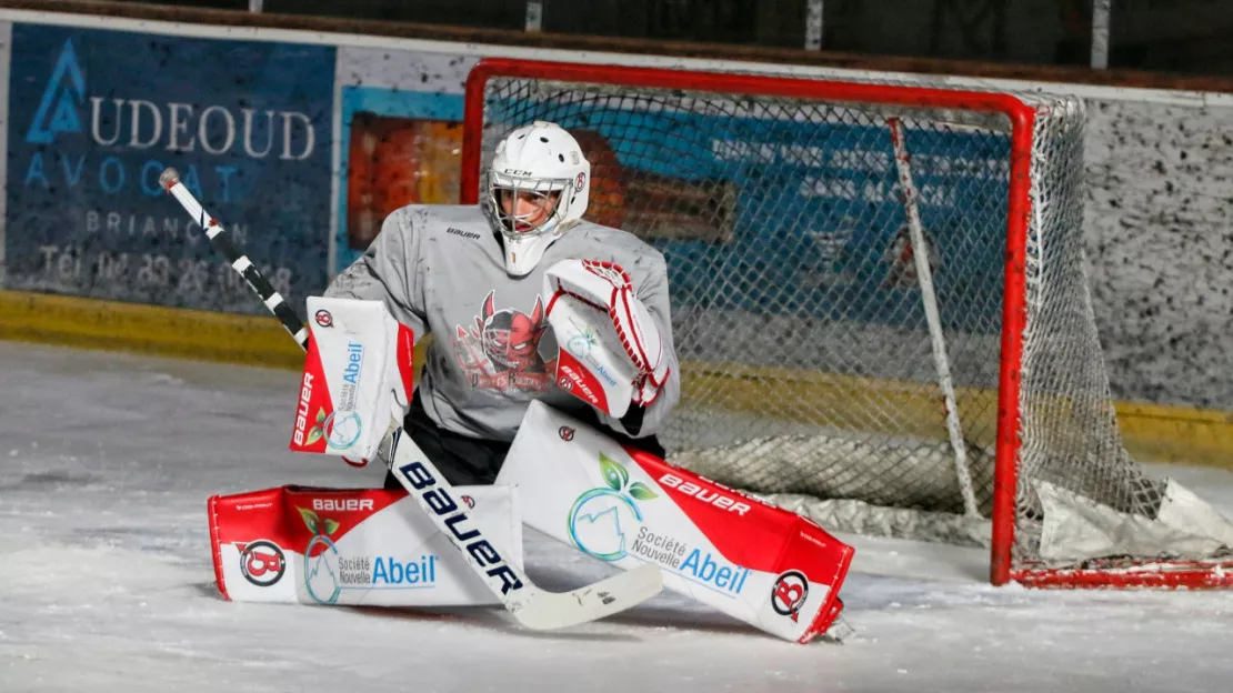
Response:
[[[471,375],[471,385],[487,390],[547,388],[544,360],[536,348],[547,329],[544,303],[535,298],[531,312],[497,310],[497,292],[490,291],[470,330],[456,327],[454,349],[459,365]]]

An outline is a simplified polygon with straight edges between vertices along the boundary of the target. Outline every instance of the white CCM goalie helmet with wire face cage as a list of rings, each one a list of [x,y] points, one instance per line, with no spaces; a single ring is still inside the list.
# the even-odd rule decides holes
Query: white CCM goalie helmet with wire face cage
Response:
[[[497,146],[487,196],[490,218],[504,237],[506,271],[524,276],[535,269],[547,247],[582,218],[589,191],[591,162],[573,136],[544,121],[510,132]],[[519,199],[535,201],[523,205],[535,211],[519,213]]]

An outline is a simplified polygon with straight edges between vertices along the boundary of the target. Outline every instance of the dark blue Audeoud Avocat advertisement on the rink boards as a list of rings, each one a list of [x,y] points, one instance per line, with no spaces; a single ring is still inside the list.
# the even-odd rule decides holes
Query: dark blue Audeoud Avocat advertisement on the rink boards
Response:
[[[158,185],[192,191],[275,287],[327,282],[334,48],[15,23],[9,289],[264,307]]]

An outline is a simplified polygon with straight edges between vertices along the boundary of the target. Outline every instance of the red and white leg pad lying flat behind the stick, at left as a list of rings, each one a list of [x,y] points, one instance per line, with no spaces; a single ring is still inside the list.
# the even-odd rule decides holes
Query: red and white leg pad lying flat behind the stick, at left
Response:
[[[501,555],[523,564],[506,486],[460,486]],[[492,591],[406,491],[285,486],[210,498],[218,592],[236,602],[428,607],[496,604]]]

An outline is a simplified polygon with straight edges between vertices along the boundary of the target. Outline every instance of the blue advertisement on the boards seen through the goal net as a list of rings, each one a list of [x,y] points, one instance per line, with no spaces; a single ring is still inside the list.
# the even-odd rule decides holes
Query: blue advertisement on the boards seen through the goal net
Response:
[[[568,106],[486,104],[493,121],[506,112],[519,123],[549,120],[582,142],[593,166],[588,216],[663,252],[673,306],[922,324],[885,122],[789,111],[755,117],[735,107],[694,113],[636,101]],[[905,139],[935,287],[948,307],[942,319],[996,330],[1009,137],[909,121]],[[599,210],[596,189],[605,178],[608,190],[619,189],[620,208]],[[699,200],[699,190],[709,197]],[[690,199],[695,211],[681,213]],[[639,211],[647,200],[676,200],[676,211]]]

